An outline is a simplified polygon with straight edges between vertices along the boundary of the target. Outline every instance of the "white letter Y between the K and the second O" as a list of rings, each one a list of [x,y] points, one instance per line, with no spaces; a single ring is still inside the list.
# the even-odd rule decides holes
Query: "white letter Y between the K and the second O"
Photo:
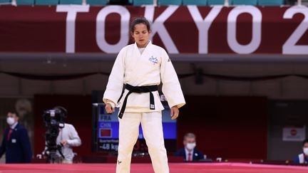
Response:
[[[190,11],[190,15],[193,17],[197,29],[199,31],[199,53],[207,53],[208,50],[208,30],[212,25],[212,21],[217,17],[220,13],[222,6],[213,6],[210,13],[207,14],[205,19],[202,19],[200,11],[197,9],[197,6],[188,6],[188,10]]]

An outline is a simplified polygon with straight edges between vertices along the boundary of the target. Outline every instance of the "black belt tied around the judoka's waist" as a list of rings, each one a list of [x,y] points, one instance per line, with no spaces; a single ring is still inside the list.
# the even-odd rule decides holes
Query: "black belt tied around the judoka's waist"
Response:
[[[132,86],[129,84],[125,85],[125,89],[129,90],[128,94],[125,96],[125,99],[123,101],[123,105],[122,108],[120,110],[120,113],[118,115],[118,117],[122,118],[125,108],[126,108],[126,103],[127,103],[127,99],[128,99],[128,95],[130,95],[131,93],[150,93],[150,110],[155,110],[155,104],[154,104],[154,95],[152,93],[152,91],[156,91],[158,90],[158,85],[149,85],[149,86]],[[124,90],[122,92],[122,94],[120,95],[120,98],[118,100],[118,102],[120,101],[120,99],[122,98],[124,93]]]

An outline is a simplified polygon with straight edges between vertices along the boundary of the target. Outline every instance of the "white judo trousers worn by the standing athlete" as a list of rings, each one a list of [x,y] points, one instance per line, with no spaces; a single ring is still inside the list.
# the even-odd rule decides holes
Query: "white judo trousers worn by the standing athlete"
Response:
[[[138,140],[139,125],[143,128],[148,152],[155,173],[168,173],[168,157],[163,139],[161,111],[125,112],[119,119],[119,145],[116,173],[129,173],[133,146]]]

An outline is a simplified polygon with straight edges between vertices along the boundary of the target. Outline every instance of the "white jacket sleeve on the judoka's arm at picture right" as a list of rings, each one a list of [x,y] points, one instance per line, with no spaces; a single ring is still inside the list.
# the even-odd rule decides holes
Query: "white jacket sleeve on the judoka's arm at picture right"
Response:
[[[167,98],[169,107],[171,108],[177,105],[180,108],[185,105],[185,98],[180,87],[178,75],[165,50],[163,50],[163,57],[160,64],[160,78],[163,83],[163,94]]]

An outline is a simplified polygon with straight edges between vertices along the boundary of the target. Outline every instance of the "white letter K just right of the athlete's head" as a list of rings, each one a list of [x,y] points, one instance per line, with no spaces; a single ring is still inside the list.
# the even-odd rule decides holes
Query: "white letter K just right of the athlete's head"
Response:
[[[160,39],[163,41],[165,48],[169,53],[179,53],[175,43],[173,43],[167,29],[164,26],[164,22],[178,9],[178,6],[168,6],[160,16],[154,21],[154,6],[145,6],[145,18],[152,22],[152,38],[157,32]],[[152,39],[151,38],[151,39]]]

